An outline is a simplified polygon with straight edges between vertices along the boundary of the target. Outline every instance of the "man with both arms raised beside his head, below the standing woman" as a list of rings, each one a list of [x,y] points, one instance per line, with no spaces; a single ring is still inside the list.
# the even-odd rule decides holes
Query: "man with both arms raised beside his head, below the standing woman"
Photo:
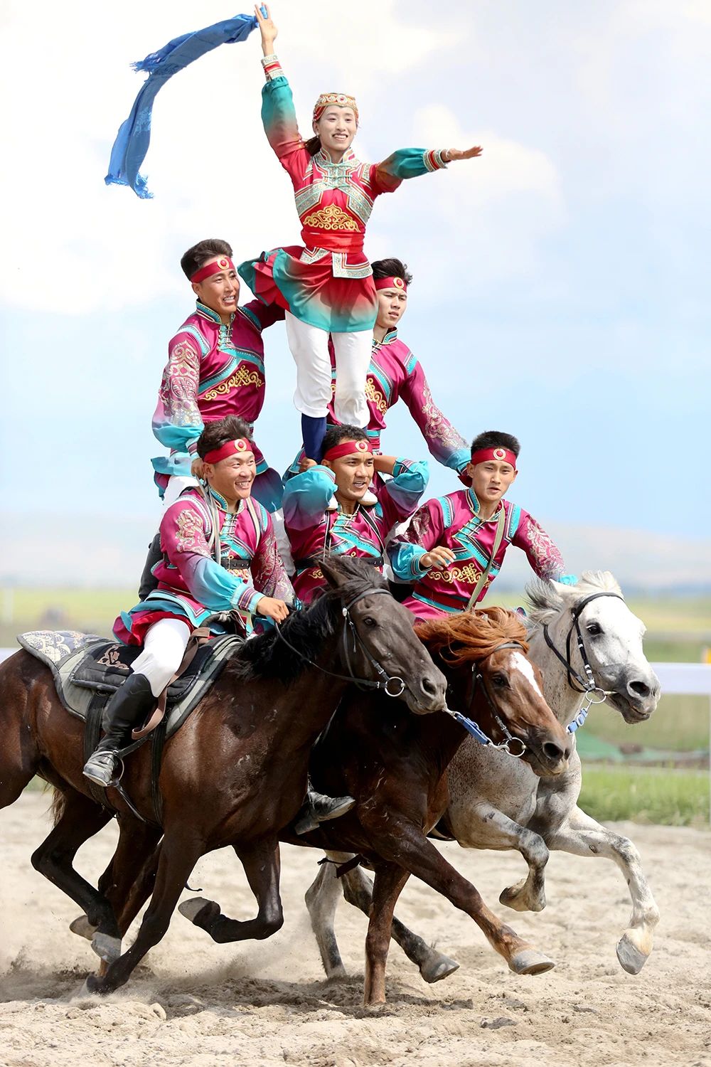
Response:
[[[326,584],[320,567],[326,553],[357,556],[383,570],[388,534],[413,514],[429,478],[425,461],[373,456],[368,434],[355,426],[332,427],[323,444],[322,463],[290,478],[284,491],[294,589],[307,604]],[[391,477],[366,505],[375,472]]]

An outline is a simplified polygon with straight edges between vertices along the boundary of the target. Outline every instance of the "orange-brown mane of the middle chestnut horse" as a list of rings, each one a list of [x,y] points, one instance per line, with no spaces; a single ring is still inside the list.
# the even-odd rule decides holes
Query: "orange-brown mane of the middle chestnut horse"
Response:
[[[452,667],[485,659],[506,641],[517,641],[524,653],[529,651],[526,626],[520,616],[503,607],[483,607],[476,611],[463,611],[421,622],[417,636],[429,652],[439,653]]]

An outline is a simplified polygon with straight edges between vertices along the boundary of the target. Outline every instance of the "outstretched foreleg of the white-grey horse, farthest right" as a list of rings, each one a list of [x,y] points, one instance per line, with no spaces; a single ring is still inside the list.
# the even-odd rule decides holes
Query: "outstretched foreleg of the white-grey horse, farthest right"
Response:
[[[659,922],[659,908],[642,870],[635,846],[628,838],[600,826],[580,808],[546,838],[549,848],[575,856],[602,856],[614,860],[625,876],[632,897],[628,928],[617,943],[617,959],[630,974],[639,974],[649,956]]]

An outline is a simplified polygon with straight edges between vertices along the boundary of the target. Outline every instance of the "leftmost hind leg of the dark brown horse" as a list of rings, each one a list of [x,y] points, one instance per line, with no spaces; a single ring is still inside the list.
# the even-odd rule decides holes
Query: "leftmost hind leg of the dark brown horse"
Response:
[[[49,837],[32,854],[31,862],[35,871],[84,909],[94,952],[101,959],[115,959],[120,938],[111,903],[72,866],[81,845],[107,825],[111,813],[69,786],[62,793],[62,814]],[[97,936],[97,929],[101,931],[100,936]]]

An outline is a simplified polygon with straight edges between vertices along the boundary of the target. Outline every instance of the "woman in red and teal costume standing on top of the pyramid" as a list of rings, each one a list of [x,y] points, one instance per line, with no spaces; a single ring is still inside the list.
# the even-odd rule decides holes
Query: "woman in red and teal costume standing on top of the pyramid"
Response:
[[[286,309],[304,449],[308,460],[318,462],[332,399],[329,335],[336,353],[336,418],[360,427],[369,420],[366,376],[377,296],[362,245],[373,201],[393,192],[404,178],[438,171],[455,159],[471,159],[482,149],[401,148],[382,163],[361,163],[351,148],[358,108],[344,93],[321,94],[313,108],[314,136],[304,142],[289,82],[274,54],[277,28],[269,7],[264,10],[266,17],[255,7],[266,75],[262,122],[294,187],[305,248],[262,253],[259,259],[243,262],[239,273],[264,303]]]

